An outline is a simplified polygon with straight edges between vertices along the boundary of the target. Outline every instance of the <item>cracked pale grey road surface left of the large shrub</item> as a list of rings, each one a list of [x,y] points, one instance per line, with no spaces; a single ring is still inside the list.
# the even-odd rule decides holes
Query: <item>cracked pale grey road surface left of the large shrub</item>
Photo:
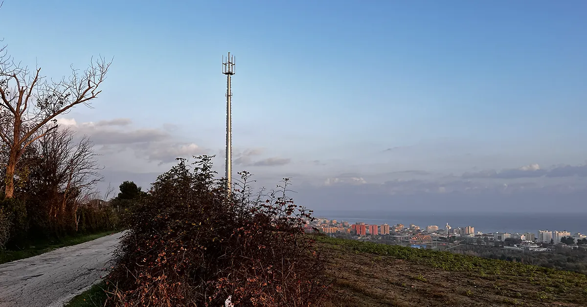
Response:
[[[62,307],[106,270],[122,232],[0,265],[0,306]]]

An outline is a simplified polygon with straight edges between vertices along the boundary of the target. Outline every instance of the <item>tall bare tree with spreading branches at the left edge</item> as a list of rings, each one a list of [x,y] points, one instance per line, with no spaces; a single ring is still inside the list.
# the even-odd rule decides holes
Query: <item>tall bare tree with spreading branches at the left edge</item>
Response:
[[[41,76],[41,68],[31,71],[5,51],[0,55],[0,139],[8,151],[6,198],[14,195],[16,167],[26,147],[57,128],[55,117],[78,104],[89,106],[101,92],[98,87],[110,63],[104,58],[92,60],[83,73],[72,68],[69,77],[55,82]]]

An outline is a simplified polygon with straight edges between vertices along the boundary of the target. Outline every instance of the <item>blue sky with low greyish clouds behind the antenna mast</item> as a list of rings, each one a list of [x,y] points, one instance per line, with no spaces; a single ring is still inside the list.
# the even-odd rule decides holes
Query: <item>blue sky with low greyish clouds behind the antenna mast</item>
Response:
[[[113,58],[88,134],[104,181],[176,157],[292,180],[315,210],[587,212],[585,1],[5,0],[0,38],[60,79]],[[234,174],[237,176],[237,174]]]

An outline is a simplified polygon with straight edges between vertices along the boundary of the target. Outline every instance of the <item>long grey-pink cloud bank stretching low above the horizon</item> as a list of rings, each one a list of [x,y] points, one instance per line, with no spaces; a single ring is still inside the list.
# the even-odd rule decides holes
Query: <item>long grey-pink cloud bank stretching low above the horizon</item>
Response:
[[[160,128],[134,127],[130,119],[109,119],[77,123],[75,119],[58,120],[61,127],[87,134],[102,154],[100,163],[107,183],[117,186],[133,180],[148,190],[158,174],[176,163],[176,158],[214,154],[214,167],[224,175],[224,149],[209,149],[193,141],[179,139],[174,124]],[[402,147],[386,151],[401,150]],[[398,170],[379,163],[370,168],[356,166],[356,171],[337,172],[343,162],[323,159],[278,157],[260,147],[233,149],[233,163],[254,174],[259,185],[275,186],[282,177],[292,177],[292,188],[301,204],[315,208],[409,208],[410,210],[484,210],[486,208],[527,208],[549,210],[557,203],[579,206],[587,195],[587,165],[558,164],[541,167],[527,164],[501,170],[465,171],[443,174],[437,171]],[[112,167],[109,167],[112,166]],[[397,166],[396,166],[397,167]],[[237,174],[234,174],[237,176]],[[528,209],[531,208],[531,209]]]

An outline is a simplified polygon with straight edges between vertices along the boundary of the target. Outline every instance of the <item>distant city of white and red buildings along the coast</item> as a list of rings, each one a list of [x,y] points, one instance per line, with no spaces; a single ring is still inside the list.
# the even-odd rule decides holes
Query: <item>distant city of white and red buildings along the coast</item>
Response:
[[[587,247],[587,235],[580,232],[572,234],[568,231],[538,230],[536,233],[525,232],[511,234],[508,232],[475,232],[475,227],[451,227],[448,223],[438,225],[389,225],[366,224],[365,222],[329,220],[316,218],[306,221],[306,232],[319,231],[332,237],[350,237],[359,240],[382,240],[387,243],[410,245],[414,248],[437,248],[439,245],[447,247],[456,244],[456,241],[470,244],[501,244],[507,249],[527,251],[547,251],[552,245],[584,245]],[[501,243],[500,243],[501,242]],[[504,244],[507,243],[507,244]]]

